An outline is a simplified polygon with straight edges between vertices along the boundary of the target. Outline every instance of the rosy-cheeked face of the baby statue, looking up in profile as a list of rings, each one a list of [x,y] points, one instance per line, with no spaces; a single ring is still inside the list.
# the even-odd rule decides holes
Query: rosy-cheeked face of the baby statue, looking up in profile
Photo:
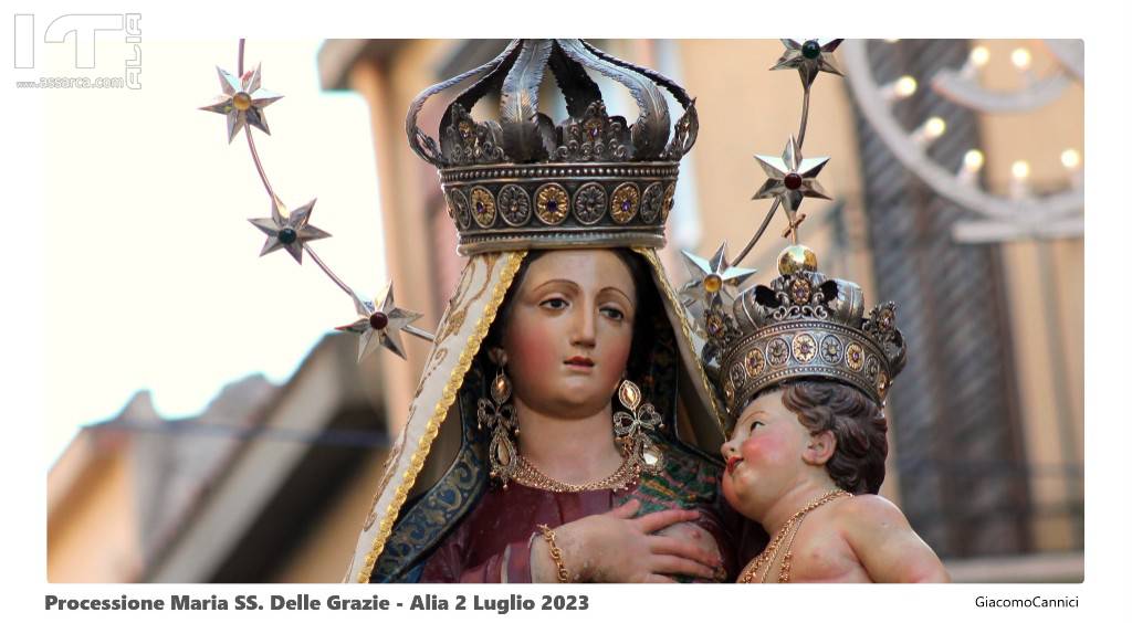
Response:
[[[762,511],[804,476],[803,452],[811,434],[798,416],[782,405],[782,391],[763,393],[739,415],[720,448],[727,471],[723,495],[744,516]]]

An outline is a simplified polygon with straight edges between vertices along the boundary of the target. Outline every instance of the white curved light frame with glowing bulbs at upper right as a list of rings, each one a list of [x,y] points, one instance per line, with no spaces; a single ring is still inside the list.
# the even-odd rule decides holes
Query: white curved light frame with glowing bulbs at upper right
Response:
[[[895,40],[885,40],[892,44]],[[880,43],[880,42],[877,42]],[[875,43],[874,43],[875,44]],[[931,118],[908,130],[892,112],[892,105],[928,85],[935,93],[963,107],[983,114],[1018,114],[1035,111],[1057,101],[1074,83],[1083,83],[1084,50],[1078,40],[1043,41],[1056,61],[1044,76],[1034,72],[1034,54],[1026,46],[1010,53],[1010,63],[1020,75],[1021,88],[989,90],[980,85],[980,72],[990,62],[986,46],[971,49],[958,69],[934,76],[904,76],[895,83],[877,84],[868,59],[867,40],[847,41],[841,46],[850,90],[864,118],[892,154],[936,193],[975,213],[979,218],[953,226],[952,235],[961,242],[996,242],[1006,239],[1075,237],[1084,232],[1084,189],[1081,154],[1067,148],[1061,153],[1065,168],[1063,188],[1038,193],[1031,185],[1031,159],[1019,158],[1011,166],[1006,192],[996,194],[980,184],[979,173],[986,155],[976,146],[967,152],[957,171],[949,171],[928,155],[932,141],[946,132],[946,119]],[[1036,155],[1046,158],[1047,155]],[[1057,157],[1054,154],[1048,157]]]

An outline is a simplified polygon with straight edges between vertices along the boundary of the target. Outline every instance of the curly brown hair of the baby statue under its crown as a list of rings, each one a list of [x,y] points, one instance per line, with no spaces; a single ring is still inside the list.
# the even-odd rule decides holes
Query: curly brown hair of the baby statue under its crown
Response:
[[[782,405],[813,434],[832,431],[837,449],[825,470],[850,493],[876,493],[884,482],[889,431],[884,412],[860,390],[833,381],[780,386]]]

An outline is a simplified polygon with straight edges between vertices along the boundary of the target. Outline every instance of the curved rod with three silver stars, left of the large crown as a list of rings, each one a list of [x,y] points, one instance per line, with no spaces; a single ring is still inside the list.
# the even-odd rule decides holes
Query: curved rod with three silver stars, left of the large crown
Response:
[[[272,201],[272,213],[268,218],[249,218],[260,232],[267,234],[267,241],[259,250],[259,254],[266,256],[280,249],[285,249],[288,253],[299,263],[302,263],[302,256],[306,252],[310,259],[318,265],[318,268],[326,274],[343,292],[350,295],[354,302],[359,319],[352,325],[337,327],[338,330],[350,331],[361,335],[361,346],[358,354],[359,363],[378,347],[388,348],[401,358],[405,358],[404,345],[401,343],[401,332],[404,331],[429,341],[435,341],[435,337],[428,331],[413,327],[411,322],[421,318],[421,314],[397,308],[393,302],[393,285],[389,285],[385,300],[380,305],[376,301],[365,301],[345,284],[329,267],[315,253],[315,250],[307,245],[308,242],[329,237],[329,233],[310,225],[310,213],[315,209],[315,199],[294,210],[288,210],[283,201],[275,194],[267,173],[264,171],[259,154],[256,150],[256,141],[251,136],[249,127],[256,127],[271,135],[267,129],[267,120],[264,118],[263,109],[268,104],[278,101],[282,95],[272,93],[260,86],[260,68],[254,71],[243,71],[243,40],[240,40],[240,50],[237,57],[237,73],[239,79],[221,68],[216,68],[220,73],[221,88],[224,94],[217,97],[215,104],[204,106],[200,110],[224,114],[228,119],[228,141],[232,142],[235,135],[242,129],[248,139],[248,150],[256,165],[264,189]]]

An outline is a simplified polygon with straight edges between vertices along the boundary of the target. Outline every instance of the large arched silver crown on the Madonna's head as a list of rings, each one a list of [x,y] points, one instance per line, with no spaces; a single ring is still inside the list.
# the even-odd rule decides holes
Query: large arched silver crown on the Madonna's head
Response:
[[[555,122],[539,111],[547,69],[566,102]],[[640,115],[610,116],[595,71],[624,87]],[[441,92],[473,80],[440,119],[439,144],[417,118]],[[661,88],[684,107],[675,127]],[[487,95],[498,119],[470,111]],[[695,102],[652,70],[582,40],[514,40],[490,62],[424,89],[405,121],[410,147],[439,170],[462,254],[516,249],[663,246],[679,161],[698,130]]]

